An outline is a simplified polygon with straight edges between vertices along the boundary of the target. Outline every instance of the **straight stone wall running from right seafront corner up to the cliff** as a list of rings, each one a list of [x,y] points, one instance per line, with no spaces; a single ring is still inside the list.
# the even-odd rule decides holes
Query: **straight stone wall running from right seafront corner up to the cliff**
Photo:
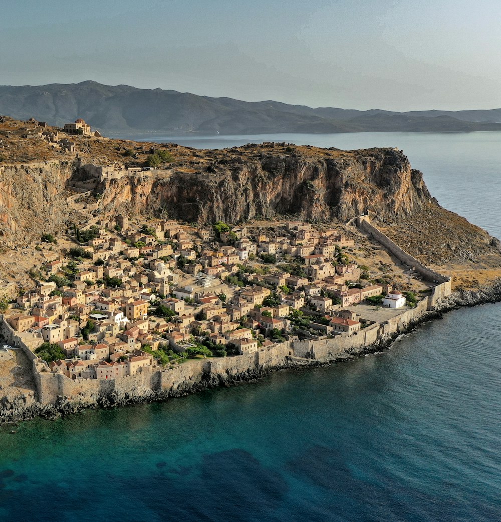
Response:
[[[451,279],[448,276],[439,274],[435,270],[428,268],[418,261],[414,256],[405,252],[400,246],[394,243],[386,234],[377,229],[370,223],[369,216],[359,216],[356,219],[357,227],[372,236],[378,243],[383,245],[391,252],[399,261],[408,267],[414,269],[426,281],[436,283],[432,289],[432,295],[428,297],[428,310],[434,310],[437,304],[441,302],[451,292]]]

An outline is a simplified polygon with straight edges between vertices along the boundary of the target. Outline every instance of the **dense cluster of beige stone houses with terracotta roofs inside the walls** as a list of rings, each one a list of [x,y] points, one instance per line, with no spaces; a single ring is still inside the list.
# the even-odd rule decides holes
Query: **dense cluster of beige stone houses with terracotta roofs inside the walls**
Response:
[[[383,306],[405,304],[389,285],[349,284],[359,280],[360,268],[332,262],[353,240],[307,223],[288,222],[267,234],[236,227],[217,237],[212,227],[175,220],[139,229],[119,216],[93,227],[91,239],[77,247],[77,261],[47,263],[45,280],[20,295],[8,314],[18,333],[60,346],[65,358],[50,369],[70,378],[135,375],[156,365],[145,345],[184,352],[208,338],[237,353],[256,352],[293,334],[293,311],[311,317],[322,333],[351,335],[363,324],[346,307],[383,293]],[[301,259],[304,275],[275,267],[237,277],[265,254]]]

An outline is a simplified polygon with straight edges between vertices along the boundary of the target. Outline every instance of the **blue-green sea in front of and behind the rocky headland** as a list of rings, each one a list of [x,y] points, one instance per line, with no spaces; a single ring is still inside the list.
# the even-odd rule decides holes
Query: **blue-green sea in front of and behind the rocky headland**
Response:
[[[501,133],[154,139],[398,147],[442,206],[501,236]],[[0,426],[0,520],[501,520],[500,319],[461,309],[351,362]]]

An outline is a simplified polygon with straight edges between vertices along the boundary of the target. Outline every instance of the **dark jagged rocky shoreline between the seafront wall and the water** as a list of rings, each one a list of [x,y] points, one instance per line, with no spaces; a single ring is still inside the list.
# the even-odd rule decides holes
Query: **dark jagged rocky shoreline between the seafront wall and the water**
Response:
[[[497,302],[501,302],[501,280],[496,281],[489,287],[480,288],[479,290],[462,290],[451,293],[437,310],[424,313],[421,317],[415,319],[405,330],[378,339],[375,343],[366,346],[363,350],[348,351],[342,356],[338,355],[325,360],[308,360],[289,357],[273,367],[258,367],[257,369],[248,369],[236,374],[227,373],[226,375],[211,376],[202,379],[201,382],[183,383],[183,385],[180,385],[176,390],[155,391],[144,388],[138,390],[137,394],[123,395],[113,392],[108,397],[100,397],[97,404],[95,402],[75,401],[69,400],[67,397],[60,397],[56,401],[56,404],[42,405],[40,402],[35,402],[30,406],[25,406],[20,399],[13,404],[6,400],[7,398],[4,398],[3,404],[0,406],[0,424],[16,424],[17,422],[30,420],[34,417],[55,420],[88,408],[115,408],[145,402],[163,401],[169,398],[191,395],[201,392],[202,390],[223,386],[231,387],[241,383],[259,381],[264,376],[277,371],[308,369],[310,367],[328,366],[333,363],[352,361],[366,354],[377,353],[388,349],[400,335],[411,333],[420,324],[433,321],[434,319],[440,319],[443,314],[452,310]]]

